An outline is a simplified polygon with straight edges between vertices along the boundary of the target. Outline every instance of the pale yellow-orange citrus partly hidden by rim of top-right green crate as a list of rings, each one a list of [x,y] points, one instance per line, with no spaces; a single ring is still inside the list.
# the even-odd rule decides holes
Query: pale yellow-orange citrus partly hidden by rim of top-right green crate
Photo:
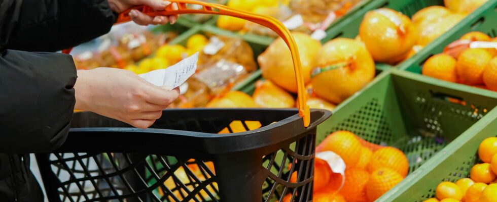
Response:
[[[418,26],[419,38],[417,39],[417,44],[422,46],[428,45],[430,42],[454,27],[465,17],[466,16],[462,14],[448,14],[447,16],[437,18]]]

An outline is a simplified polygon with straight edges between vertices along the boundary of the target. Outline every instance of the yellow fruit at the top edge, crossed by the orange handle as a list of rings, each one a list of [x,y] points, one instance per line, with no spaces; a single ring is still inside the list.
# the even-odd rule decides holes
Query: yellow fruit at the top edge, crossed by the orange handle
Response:
[[[227,6],[245,12],[264,14],[265,10],[278,5],[288,5],[289,0],[229,0]],[[218,27],[221,29],[240,31],[245,26],[246,20],[231,16],[220,16],[218,18]]]

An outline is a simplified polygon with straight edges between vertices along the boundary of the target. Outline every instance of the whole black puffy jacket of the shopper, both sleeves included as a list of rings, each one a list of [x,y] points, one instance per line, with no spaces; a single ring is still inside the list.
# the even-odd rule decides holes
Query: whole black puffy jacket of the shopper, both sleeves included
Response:
[[[72,57],[48,53],[107,33],[107,0],[0,0],[0,201],[43,201],[29,153],[68,133],[75,104]]]

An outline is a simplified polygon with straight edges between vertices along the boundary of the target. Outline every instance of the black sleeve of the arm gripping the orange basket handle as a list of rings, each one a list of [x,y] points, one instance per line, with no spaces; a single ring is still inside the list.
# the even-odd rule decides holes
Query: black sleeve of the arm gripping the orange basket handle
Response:
[[[55,52],[109,32],[107,0],[1,0],[0,51]]]

